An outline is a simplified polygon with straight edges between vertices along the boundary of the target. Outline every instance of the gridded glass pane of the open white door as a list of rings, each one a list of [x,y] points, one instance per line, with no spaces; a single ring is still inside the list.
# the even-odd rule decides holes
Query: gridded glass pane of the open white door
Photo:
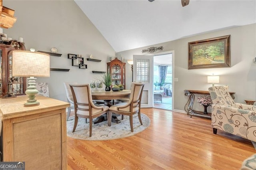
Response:
[[[136,82],[149,83],[149,59],[137,59],[136,70]]]

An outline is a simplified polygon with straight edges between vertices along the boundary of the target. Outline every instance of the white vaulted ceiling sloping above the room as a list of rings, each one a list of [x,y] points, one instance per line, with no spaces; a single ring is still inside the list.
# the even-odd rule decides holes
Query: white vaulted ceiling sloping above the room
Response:
[[[256,0],[74,0],[116,52],[256,23]]]

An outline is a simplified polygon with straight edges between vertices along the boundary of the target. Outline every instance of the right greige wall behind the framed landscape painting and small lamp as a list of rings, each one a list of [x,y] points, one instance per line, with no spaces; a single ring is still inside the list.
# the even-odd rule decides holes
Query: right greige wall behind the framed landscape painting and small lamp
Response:
[[[231,67],[213,69],[193,69],[188,70],[188,42],[204,40],[219,36],[230,36]],[[163,46],[163,51],[174,50],[174,77],[178,82],[174,83],[174,109],[184,110],[188,97],[184,95],[184,90],[208,90],[211,86],[207,83],[207,75],[220,75],[220,83],[217,85],[229,85],[229,89],[235,94],[235,102],[245,103],[244,99],[256,100],[256,64],[252,62],[256,57],[256,24],[229,28],[226,30],[211,32],[183,38],[180,40],[159,43],[137,49],[131,49],[116,53],[119,57],[124,56],[126,60],[132,59],[133,55],[142,55],[142,49],[152,46]],[[157,51],[157,52],[163,52]],[[148,53],[146,53],[148,54]],[[126,86],[130,86],[132,79],[130,65],[126,65]],[[198,96],[196,96],[198,97]],[[196,103],[196,102],[195,102]],[[195,109],[203,107],[197,104]]]

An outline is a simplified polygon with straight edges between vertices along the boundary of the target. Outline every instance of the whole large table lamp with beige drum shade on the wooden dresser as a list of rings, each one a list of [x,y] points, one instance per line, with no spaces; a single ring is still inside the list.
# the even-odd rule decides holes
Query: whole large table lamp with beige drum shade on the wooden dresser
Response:
[[[35,77],[50,77],[50,55],[32,51],[13,51],[12,76],[29,77],[25,92],[29,99],[24,103],[24,107],[40,105],[35,99],[38,93]]]

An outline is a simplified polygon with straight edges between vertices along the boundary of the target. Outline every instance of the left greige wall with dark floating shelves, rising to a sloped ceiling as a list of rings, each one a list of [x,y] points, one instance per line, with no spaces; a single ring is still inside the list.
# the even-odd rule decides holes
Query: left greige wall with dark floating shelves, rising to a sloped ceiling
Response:
[[[90,83],[101,79],[94,71],[106,71],[108,56],[114,49],[84,15],[73,0],[4,0],[3,6],[14,9],[17,18],[14,26],[4,29],[8,37],[18,40],[23,37],[26,49],[51,51],[52,47],[62,53],[61,57],[50,56],[51,68],[70,69],[69,72],[51,71],[49,78],[38,77],[37,82],[48,82],[50,97],[66,101],[63,82]],[[88,69],[72,66],[68,53],[90,54],[101,62],[87,61]]]

